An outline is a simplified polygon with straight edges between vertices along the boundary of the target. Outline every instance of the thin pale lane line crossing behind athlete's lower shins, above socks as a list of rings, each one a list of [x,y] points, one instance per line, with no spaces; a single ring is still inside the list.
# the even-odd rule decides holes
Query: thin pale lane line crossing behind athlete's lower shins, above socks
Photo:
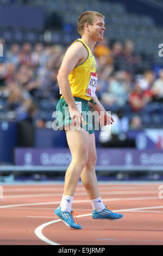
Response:
[[[156,193],[158,194],[158,190],[153,190],[152,192],[150,191],[145,191],[145,190],[138,190],[138,191],[101,191],[101,195],[109,195],[109,194],[152,194]],[[33,198],[33,197],[60,197],[62,196],[62,193],[37,193],[37,194],[12,194],[9,196],[4,196],[4,199],[7,198]],[[86,192],[77,192],[76,196],[87,196]]]

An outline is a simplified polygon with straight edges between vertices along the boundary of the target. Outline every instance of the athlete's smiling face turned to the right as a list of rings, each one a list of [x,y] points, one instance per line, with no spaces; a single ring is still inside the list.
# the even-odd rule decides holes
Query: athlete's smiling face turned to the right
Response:
[[[90,36],[96,42],[103,40],[104,31],[105,31],[105,23],[102,17],[96,16],[96,20],[92,25],[89,25]]]

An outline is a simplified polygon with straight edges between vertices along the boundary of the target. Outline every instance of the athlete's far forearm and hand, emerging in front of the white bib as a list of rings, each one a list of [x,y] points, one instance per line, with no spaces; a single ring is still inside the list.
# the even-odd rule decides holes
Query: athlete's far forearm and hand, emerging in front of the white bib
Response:
[[[93,105],[91,103],[92,107],[99,113],[99,123],[103,126],[112,124],[114,122],[114,119],[111,117],[111,115],[108,112],[105,111],[102,103],[99,102],[96,94],[92,99],[97,104],[97,105]]]

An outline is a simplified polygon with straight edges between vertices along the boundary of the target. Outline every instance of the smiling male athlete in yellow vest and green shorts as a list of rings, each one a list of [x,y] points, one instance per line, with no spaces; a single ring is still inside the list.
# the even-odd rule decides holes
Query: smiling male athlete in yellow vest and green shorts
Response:
[[[64,193],[55,214],[73,229],[82,229],[75,222],[71,209],[79,179],[82,180],[91,201],[93,219],[118,220],[123,217],[122,214],[107,209],[99,195],[95,172],[95,134],[88,107],[90,101],[99,113],[101,125],[114,122],[95,94],[97,74],[92,51],[96,42],[103,40],[104,25],[104,16],[96,11],[86,11],[80,15],[78,32],[82,39],[74,41],[68,48],[57,77],[62,95],[57,105],[58,129],[66,132],[72,161],[65,174]]]

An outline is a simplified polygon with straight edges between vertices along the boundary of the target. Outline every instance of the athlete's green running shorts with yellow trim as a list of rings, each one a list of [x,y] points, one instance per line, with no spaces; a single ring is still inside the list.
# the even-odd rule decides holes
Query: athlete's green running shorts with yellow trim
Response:
[[[88,101],[80,99],[78,97],[74,97],[76,102],[82,102],[82,117],[84,119],[84,127],[80,124],[85,131],[89,134],[94,133],[93,123],[92,123],[92,115],[88,106]],[[68,110],[68,105],[64,98],[60,99],[57,104],[57,129],[61,131],[65,131],[64,126],[71,124],[72,120],[70,117],[70,113]]]

